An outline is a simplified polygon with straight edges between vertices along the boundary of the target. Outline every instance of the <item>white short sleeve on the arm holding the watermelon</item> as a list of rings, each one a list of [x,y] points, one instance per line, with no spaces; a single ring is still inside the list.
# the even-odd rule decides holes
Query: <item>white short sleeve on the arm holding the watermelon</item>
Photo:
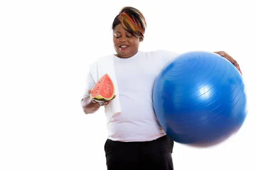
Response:
[[[87,71],[86,77],[85,77],[85,84],[84,84],[84,93],[81,96],[81,99],[84,99],[84,97],[90,96],[88,93],[88,90],[92,90],[94,85],[96,85],[96,82],[93,79],[92,74],[95,74],[94,72],[98,72],[98,68],[96,65],[96,62],[90,65],[89,71]],[[98,74],[98,73],[96,73]]]

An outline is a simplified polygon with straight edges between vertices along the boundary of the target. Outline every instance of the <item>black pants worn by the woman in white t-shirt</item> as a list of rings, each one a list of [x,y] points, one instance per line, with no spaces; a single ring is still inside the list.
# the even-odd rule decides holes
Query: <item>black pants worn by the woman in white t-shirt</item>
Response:
[[[105,143],[108,170],[173,170],[173,140],[168,136],[147,142]]]

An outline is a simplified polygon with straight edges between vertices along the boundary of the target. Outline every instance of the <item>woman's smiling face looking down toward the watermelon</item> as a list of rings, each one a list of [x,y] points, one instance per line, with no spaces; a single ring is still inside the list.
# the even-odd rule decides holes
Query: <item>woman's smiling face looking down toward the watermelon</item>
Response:
[[[140,40],[119,24],[113,30],[113,44],[118,57],[128,58],[138,52]]]

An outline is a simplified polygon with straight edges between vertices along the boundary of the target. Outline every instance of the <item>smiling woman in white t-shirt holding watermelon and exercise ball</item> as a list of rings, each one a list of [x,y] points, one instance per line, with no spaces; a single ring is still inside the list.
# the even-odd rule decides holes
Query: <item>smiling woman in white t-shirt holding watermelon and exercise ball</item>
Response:
[[[143,14],[132,7],[122,8],[112,24],[113,54],[119,100],[122,113],[108,122],[105,142],[108,170],[173,170],[173,141],[160,127],[153,109],[154,80],[169,60],[178,56],[170,51],[139,51],[146,22]],[[239,69],[237,62],[224,51],[215,52],[226,57]],[[93,63],[87,75],[81,106],[84,113],[95,113],[111,101],[99,103],[90,99],[96,84],[92,75],[97,72]]]

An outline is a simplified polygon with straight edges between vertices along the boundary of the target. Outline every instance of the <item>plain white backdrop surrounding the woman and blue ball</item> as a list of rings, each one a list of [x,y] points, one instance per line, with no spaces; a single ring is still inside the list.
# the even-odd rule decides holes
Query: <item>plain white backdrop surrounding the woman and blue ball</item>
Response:
[[[88,64],[114,53],[123,6],[148,24],[140,50],[226,51],[247,83],[249,115],[218,147],[175,143],[175,170],[255,170],[255,0],[1,0],[0,169],[106,170],[103,108],[82,112]],[[135,82],[136,83],[136,82]]]

